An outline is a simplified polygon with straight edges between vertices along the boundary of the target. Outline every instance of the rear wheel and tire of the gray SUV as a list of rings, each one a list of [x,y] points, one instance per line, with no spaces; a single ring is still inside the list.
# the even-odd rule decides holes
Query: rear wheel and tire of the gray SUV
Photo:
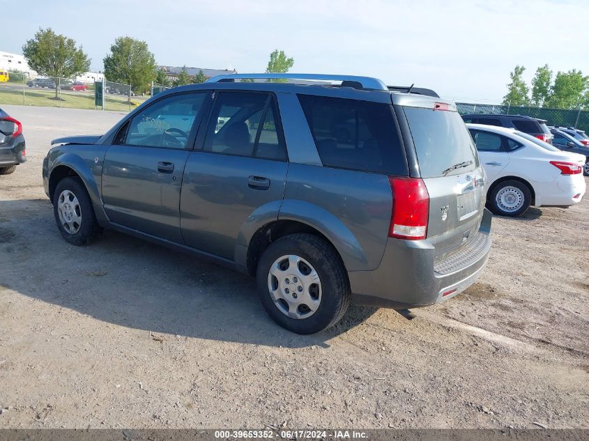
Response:
[[[351,299],[342,259],[330,243],[312,234],[286,235],[270,244],[259,261],[257,284],[268,315],[297,334],[314,334],[335,325]]]

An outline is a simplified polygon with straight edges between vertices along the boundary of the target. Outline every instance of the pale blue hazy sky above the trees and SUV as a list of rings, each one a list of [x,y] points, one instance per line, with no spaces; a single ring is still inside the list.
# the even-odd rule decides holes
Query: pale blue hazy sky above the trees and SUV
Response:
[[[0,0],[13,10],[14,0]],[[291,72],[366,75],[500,102],[509,73],[589,74],[588,0],[29,0],[2,22],[0,51],[41,27],[74,38],[102,70],[118,36],[145,40],[160,65],[263,72],[274,49]]]

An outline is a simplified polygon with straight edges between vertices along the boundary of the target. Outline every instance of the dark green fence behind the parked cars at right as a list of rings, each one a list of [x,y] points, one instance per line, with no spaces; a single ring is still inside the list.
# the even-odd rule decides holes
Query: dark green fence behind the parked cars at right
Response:
[[[510,107],[504,105],[457,102],[457,109],[464,114],[525,115],[545,119],[548,125],[576,127],[589,132],[589,111],[581,109],[547,109],[545,107]]]

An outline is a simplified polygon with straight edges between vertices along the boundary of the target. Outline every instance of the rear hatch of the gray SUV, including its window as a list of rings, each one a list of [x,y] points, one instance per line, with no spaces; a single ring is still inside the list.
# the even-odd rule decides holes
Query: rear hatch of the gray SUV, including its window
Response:
[[[404,100],[395,108],[399,119],[406,119],[411,134],[404,139],[406,148],[415,149],[419,177],[427,187],[427,240],[439,262],[476,241],[486,189],[473,139],[455,106],[428,101],[412,105]]]

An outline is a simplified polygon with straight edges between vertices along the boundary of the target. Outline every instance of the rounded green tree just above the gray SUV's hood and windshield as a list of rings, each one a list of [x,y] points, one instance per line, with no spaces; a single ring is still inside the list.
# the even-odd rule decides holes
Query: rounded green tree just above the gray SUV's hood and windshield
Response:
[[[147,43],[131,37],[119,37],[104,59],[105,78],[116,83],[130,84],[136,93],[143,93],[155,79],[155,57]]]

